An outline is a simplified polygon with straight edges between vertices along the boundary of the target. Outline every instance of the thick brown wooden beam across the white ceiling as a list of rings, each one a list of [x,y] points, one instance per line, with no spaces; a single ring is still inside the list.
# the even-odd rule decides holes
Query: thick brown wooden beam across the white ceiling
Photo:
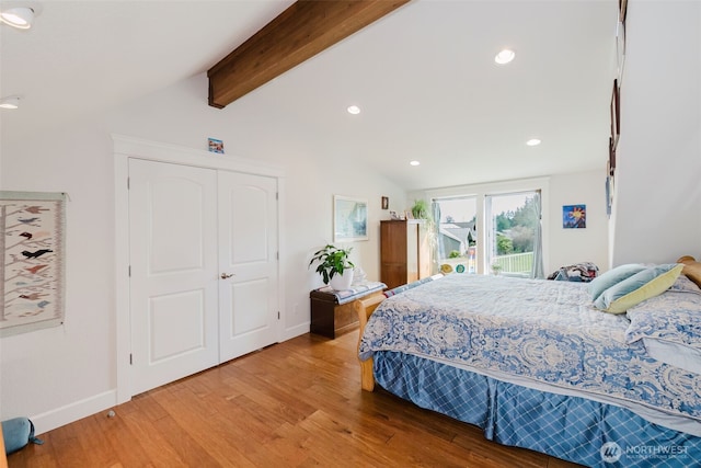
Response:
[[[410,0],[298,0],[207,71],[223,109]]]

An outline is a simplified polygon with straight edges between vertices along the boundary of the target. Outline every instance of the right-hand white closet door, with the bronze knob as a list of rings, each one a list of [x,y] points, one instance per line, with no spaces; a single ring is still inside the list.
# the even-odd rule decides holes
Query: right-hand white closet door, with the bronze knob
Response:
[[[221,362],[277,341],[277,180],[219,172]]]

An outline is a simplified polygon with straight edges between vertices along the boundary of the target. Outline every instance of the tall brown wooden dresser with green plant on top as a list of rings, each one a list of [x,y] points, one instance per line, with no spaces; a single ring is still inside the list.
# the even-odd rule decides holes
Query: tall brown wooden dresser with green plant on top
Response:
[[[426,221],[380,221],[380,281],[391,289],[428,276],[430,249]]]

